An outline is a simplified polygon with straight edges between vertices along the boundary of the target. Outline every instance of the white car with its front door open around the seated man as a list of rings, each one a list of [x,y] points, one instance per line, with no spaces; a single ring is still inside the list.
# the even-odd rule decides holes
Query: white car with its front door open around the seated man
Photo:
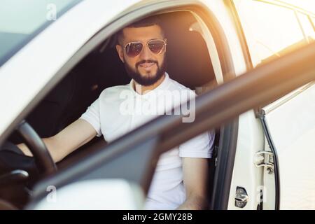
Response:
[[[160,155],[209,130],[209,209],[315,209],[315,8],[17,2],[0,7],[1,209],[142,209]],[[130,81],[116,32],[149,15],[167,34],[168,73],[198,95],[195,121],[160,116],[111,143],[92,139],[56,165],[41,138]],[[34,158],[15,148],[22,141]]]

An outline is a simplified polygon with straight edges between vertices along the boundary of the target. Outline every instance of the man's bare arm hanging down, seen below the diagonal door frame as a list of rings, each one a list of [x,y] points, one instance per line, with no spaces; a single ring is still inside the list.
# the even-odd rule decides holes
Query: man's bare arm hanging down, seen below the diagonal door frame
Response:
[[[208,159],[183,158],[183,184],[186,201],[178,209],[206,209],[208,187]]]

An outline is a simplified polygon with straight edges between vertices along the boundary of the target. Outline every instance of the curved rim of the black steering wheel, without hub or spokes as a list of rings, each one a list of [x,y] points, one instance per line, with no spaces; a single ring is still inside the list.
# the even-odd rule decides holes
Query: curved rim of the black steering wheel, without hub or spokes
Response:
[[[45,146],[45,143],[38,136],[35,130],[25,120],[16,127],[16,131],[24,139],[29,151],[34,156],[35,165],[41,174],[49,175],[57,171],[55,162]]]

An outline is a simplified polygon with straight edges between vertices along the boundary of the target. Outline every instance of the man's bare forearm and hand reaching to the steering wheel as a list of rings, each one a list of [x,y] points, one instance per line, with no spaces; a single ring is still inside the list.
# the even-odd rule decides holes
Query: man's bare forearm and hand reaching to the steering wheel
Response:
[[[55,136],[44,138],[43,142],[48,148],[52,160],[59,162],[66,155],[69,155],[77,148],[80,148],[80,146],[91,141],[96,135],[97,132],[90,123],[83,119],[78,119]],[[32,155],[25,144],[18,144],[17,146],[25,155]]]

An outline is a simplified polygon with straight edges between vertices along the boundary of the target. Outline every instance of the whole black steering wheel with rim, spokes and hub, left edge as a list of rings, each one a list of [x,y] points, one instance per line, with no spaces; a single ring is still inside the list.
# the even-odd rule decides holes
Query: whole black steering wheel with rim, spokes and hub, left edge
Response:
[[[29,184],[31,185],[39,176],[47,176],[57,171],[48,149],[31,125],[23,120],[16,127],[16,131],[33,154],[33,158],[24,155],[20,148],[10,141],[1,145],[0,209],[22,207],[21,204],[25,204],[29,197],[30,191],[26,190]],[[10,196],[13,194],[14,199]]]

